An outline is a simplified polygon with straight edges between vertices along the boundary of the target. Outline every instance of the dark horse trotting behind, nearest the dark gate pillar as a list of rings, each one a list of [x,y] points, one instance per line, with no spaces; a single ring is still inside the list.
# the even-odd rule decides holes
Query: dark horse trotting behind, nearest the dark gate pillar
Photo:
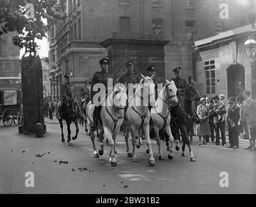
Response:
[[[73,107],[75,103],[72,103],[70,100],[67,100],[67,103],[58,102],[58,120],[60,122],[60,128],[62,129],[62,142],[65,142],[64,134],[63,134],[63,124],[62,120],[65,120],[67,123],[67,143],[69,143],[69,146],[73,146],[71,142],[71,129],[70,125],[72,122],[76,125],[76,136],[73,136],[72,139],[76,140],[78,135],[78,110],[75,110],[75,107]]]

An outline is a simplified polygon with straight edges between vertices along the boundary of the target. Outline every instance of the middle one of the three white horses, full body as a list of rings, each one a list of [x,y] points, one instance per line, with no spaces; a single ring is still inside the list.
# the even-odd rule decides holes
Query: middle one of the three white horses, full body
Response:
[[[155,105],[155,85],[152,79],[154,79],[155,75],[152,77],[145,77],[141,74],[141,82],[137,86],[137,89],[133,96],[130,96],[128,102],[128,108],[126,113],[124,114],[125,120],[128,122],[128,127],[126,127],[126,152],[128,157],[132,157],[133,162],[139,162],[137,156],[135,154],[135,146],[136,146],[136,138],[135,132],[143,129],[145,132],[146,143],[149,148],[150,158],[148,163],[151,166],[156,165],[156,162],[153,157],[151,140],[149,136],[149,122],[150,122],[150,111],[148,110],[148,103],[152,106]],[[148,100],[149,97],[149,100]],[[127,130],[130,129],[130,130]],[[132,153],[130,153],[129,145],[128,145],[128,133],[131,132],[132,135]]]

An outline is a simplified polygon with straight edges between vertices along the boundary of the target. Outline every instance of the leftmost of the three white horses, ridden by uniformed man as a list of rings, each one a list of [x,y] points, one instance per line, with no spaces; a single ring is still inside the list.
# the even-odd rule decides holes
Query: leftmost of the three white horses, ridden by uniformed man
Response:
[[[120,84],[115,85],[113,93],[108,98],[106,96],[101,100],[102,109],[100,111],[100,122],[98,122],[98,129],[102,129],[104,138],[108,139],[110,144],[110,164],[111,166],[117,166],[117,160],[115,159],[115,138],[120,131],[122,124],[122,118],[124,118],[124,107],[126,106],[126,89],[121,87]],[[87,123],[90,125],[93,122],[93,111],[95,105],[89,102],[86,107]],[[93,155],[95,158],[99,158],[99,155],[104,153],[104,145],[102,138],[100,139],[99,154],[95,147],[95,134],[91,127],[89,127],[91,133],[91,142],[93,143]],[[102,136],[100,136],[102,137]]]

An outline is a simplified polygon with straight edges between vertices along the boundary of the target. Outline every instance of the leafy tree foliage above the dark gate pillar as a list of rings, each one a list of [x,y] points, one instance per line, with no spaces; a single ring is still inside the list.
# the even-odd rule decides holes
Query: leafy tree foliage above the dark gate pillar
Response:
[[[46,37],[48,30],[42,18],[52,21],[65,17],[65,1],[0,0],[0,41],[1,35],[16,32],[14,45],[36,54],[38,45],[34,39]]]

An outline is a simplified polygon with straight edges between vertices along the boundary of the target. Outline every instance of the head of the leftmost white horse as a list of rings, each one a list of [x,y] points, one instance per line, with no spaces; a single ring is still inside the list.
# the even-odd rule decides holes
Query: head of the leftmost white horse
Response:
[[[124,118],[124,107],[126,106],[126,87],[117,85],[113,91],[113,108],[117,111],[117,118]]]

